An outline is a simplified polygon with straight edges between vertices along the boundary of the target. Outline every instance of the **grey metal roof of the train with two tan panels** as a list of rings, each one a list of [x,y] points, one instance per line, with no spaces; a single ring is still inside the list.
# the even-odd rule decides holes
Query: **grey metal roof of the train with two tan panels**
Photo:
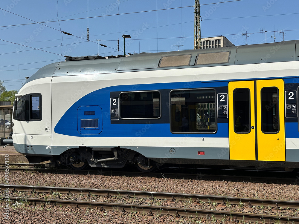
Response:
[[[27,82],[52,76],[299,61],[299,40],[99,58],[102,59],[52,63],[39,69]]]

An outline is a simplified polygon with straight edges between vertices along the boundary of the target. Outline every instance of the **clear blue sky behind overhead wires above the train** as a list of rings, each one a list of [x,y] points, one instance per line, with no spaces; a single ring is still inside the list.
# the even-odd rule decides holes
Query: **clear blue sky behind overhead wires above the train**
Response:
[[[202,37],[222,35],[245,45],[247,31],[251,45],[266,42],[263,29],[267,43],[274,42],[274,30],[284,32],[285,40],[299,39],[298,0],[226,1],[231,0],[200,0]],[[19,90],[26,76],[63,61],[61,55],[123,54],[122,34],[132,37],[126,39],[126,53],[178,50],[174,45],[193,49],[193,5],[194,0],[1,0],[0,80],[7,90]],[[283,40],[282,33],[275,36],[276,42]],[[99,49],[98,43],[107,47]]]

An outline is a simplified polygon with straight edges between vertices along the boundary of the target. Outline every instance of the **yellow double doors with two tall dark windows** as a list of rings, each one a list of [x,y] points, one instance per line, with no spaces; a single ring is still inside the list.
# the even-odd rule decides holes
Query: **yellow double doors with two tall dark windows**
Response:
[[[230,82],[231,160],[286,161],[283,80]]]

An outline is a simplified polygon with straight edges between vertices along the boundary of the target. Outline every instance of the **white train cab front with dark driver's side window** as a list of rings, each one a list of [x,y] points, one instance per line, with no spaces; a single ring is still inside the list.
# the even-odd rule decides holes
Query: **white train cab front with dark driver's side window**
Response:
[[[22,94],[24,91],[20,91],[13,103],[13,145],[30,163],[53,158],[51,95],[50,89],[45,92],[46,86],[45,89],[37,86],[33,93]]]

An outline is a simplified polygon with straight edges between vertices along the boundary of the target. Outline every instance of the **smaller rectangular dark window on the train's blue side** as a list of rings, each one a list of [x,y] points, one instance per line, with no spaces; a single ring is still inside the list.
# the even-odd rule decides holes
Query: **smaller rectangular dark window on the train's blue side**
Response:
[[[121,119],[158,119],[161,117],[159,91],[120,93]]]

